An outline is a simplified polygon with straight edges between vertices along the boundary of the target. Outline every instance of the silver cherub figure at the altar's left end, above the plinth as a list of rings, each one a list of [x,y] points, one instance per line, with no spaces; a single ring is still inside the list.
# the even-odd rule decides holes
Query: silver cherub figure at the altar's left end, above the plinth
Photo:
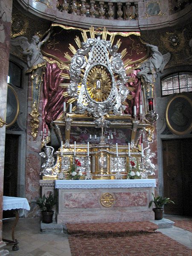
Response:
[[[54,175],[52,167],[55,163],[55,158],[53,157],[54,148],[45,145],[44,152],[39,153],[41,157],[45,158],[45,162],[41,166],[41,173],[44,176]]]

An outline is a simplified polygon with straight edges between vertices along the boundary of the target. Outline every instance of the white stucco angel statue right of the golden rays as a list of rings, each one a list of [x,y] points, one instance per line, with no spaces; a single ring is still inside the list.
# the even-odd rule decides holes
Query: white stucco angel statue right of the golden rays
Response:
[[[157,78],[159,72],[163,73],[163,69],[171,58],[170,52],[162,55],[158,47],[152,44],[146,44],[147,47],[151,49],[151,56],[147,61],[144,61],[137,73],[137,77],[143,76],[145,82],[153,84],[154,79]]]

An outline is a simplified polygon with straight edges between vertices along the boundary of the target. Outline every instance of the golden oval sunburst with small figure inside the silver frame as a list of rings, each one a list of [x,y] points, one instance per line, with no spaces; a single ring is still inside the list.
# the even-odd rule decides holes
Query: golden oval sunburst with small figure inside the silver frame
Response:
[[[111,92],[111,75],[107,68],[97,65],[90,69],[87,76],[87,91],[96,102],[108,99]]]

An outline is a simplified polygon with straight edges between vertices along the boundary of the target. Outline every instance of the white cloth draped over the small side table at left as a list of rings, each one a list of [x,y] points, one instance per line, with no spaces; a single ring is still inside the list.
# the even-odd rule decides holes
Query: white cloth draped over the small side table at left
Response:
[[[3,210],[26,209],[30,210],[29,203],[26,198],[18,198],[3,195]]]

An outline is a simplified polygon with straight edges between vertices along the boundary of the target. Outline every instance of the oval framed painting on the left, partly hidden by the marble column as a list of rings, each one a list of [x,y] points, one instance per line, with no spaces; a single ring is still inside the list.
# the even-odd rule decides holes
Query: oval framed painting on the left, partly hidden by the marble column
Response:
[[[7,88],[7,111],[6,111],[6,127],[12,126],[17,120],[19,113],[19,100],[13,87],[8,84]]]

